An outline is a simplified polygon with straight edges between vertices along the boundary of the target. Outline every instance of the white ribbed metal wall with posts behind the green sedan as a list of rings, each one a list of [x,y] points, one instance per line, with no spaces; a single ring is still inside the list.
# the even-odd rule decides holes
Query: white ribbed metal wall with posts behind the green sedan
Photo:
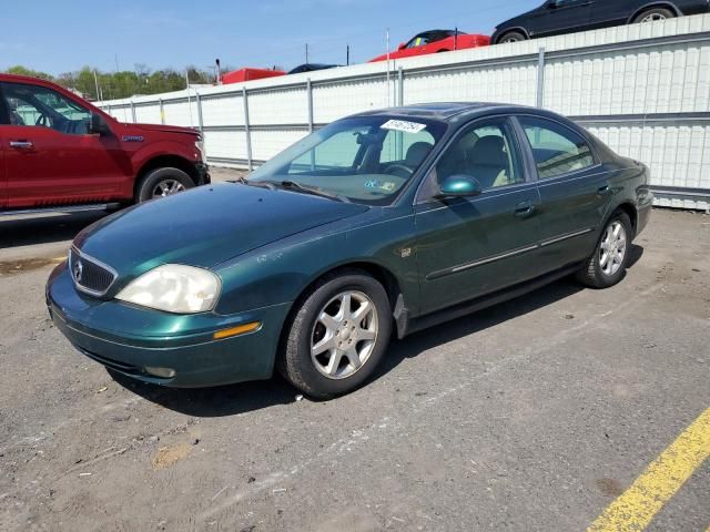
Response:
[[[649,164],[659,204],[710,208],[710,14],[102,106],[200,127],[212,164],[243,167],[348,114],[435,101],[540,104]]]

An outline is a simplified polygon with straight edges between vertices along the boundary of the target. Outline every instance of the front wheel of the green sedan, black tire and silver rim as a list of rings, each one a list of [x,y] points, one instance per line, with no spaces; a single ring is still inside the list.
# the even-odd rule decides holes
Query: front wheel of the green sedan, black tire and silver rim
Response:
[[[359,270],[320,280],[286,329],[280,372],[304,393],[326,399],[347,393],[372,375],[392,334],[383,286]]]

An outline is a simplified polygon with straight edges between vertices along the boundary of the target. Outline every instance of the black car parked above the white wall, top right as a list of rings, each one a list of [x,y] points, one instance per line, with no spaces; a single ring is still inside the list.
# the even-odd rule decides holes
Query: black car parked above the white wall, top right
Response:
[[[491,43],[707,12],[710,12],[710,0],[548,0],[539,8],[498,25]]]

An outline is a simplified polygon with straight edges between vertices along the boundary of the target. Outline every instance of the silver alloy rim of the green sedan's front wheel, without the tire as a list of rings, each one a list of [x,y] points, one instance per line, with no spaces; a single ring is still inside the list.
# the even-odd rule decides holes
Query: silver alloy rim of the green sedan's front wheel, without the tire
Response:
[[[347,290],[318,313],[311,332],[311,359],[328,379],[345,379],[371,357],[379,323],[374,301],[362,291]]]

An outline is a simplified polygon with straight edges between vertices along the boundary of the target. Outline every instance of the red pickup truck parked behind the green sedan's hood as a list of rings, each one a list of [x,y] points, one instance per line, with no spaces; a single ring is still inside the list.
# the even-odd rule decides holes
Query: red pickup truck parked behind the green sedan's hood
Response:
[[[0,214],[112,208],[207,183],[197,131],[124,124],[53,83],[0,74]]]

